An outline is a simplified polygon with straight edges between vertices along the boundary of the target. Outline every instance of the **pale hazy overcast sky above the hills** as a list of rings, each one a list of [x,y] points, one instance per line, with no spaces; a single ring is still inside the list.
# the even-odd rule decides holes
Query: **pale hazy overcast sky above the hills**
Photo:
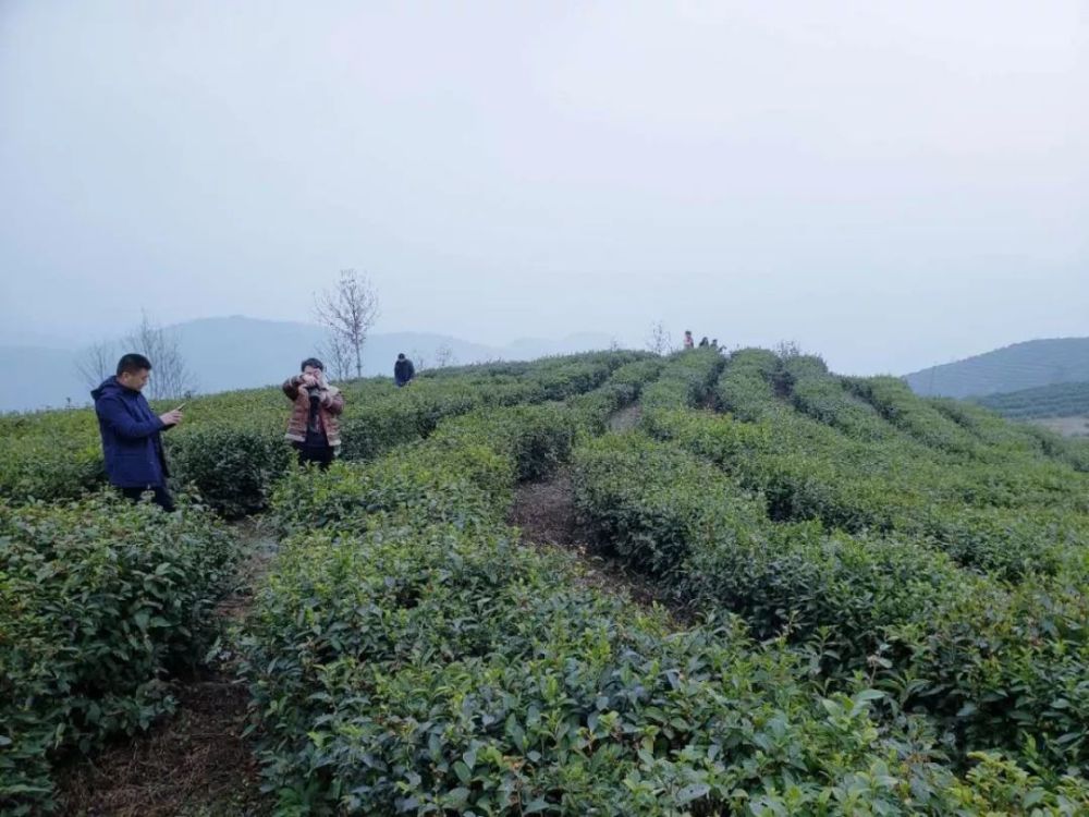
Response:
[[[1089,2],[0,0],[0,342],[1089,334]]]

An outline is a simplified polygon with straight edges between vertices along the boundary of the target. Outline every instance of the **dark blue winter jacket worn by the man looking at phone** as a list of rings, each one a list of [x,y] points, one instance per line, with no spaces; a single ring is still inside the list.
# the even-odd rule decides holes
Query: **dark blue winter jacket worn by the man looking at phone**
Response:
[[[167,481],[159,432],[167,426],[138,391],[110,377],[90,392],[102,435],[106,475],[119,488],[148,488]]]

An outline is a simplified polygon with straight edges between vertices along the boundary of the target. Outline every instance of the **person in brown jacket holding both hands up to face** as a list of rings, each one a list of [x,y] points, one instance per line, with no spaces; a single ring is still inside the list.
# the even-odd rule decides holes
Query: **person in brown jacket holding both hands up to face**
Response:
[[[317,357],[307,357],[301,369],[283,383],[283,393],[295,403],[284,437],[298,451],[299,465],[316,462],[325,471],[340,448],[344,395],[326,380],[325,364]]]

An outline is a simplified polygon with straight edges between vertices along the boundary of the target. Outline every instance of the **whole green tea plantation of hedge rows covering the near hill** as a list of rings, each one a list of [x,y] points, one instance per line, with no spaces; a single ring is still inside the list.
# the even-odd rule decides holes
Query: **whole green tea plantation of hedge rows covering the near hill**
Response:
[[[0,418],[0,813],[169,715],[261,513],[276,814],[1089,814],[1084,443],[761,350],[344,390],[328,472],[277,390],[195,400],[173,514],[102,487],[93,413]],[[559,470],[665,607],[507,524]]]

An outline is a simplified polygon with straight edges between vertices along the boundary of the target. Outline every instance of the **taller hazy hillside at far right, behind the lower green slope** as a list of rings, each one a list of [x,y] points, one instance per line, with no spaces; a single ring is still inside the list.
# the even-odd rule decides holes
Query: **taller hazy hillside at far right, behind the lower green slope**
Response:
[[[905,378],[917,394],[968,398],[1089,380],[1089,338],[1015,343]]]

